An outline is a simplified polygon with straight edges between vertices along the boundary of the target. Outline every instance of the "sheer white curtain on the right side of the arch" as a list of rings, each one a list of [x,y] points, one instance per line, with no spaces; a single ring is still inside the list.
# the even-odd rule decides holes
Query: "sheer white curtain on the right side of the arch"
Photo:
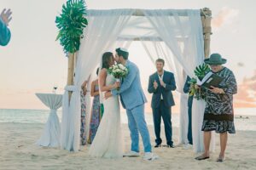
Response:
[[[200,10],[143,10],[160,38],[172,50],[183,70],[189,77],[195,77],[195,66],[203,63],[204,46]],[[183,16],[179,16],[179,14]],[[184,81],[183,81],[184,82]],[[182,95],[183,96],[183,95]],[[182,99],[185,100],[184,98]],[[195,108],[202,108],[204,102],[195,102]],[[201,122],[203,110],[193,112],[193,144],[195,152],[203,151],[201,142]],[[197,129],[197,130],[195,130]],[[200,130],[199,130],[200,129]]]

